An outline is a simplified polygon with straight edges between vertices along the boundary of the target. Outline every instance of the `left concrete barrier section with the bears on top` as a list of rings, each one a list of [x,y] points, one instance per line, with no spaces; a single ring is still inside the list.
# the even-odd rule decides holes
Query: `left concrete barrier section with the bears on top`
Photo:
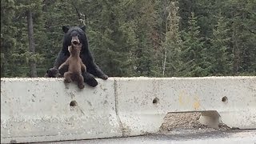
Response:
[[[122,136],[114,80],[98,82],[79,90],[62,78],[1,78],[1,142]]]

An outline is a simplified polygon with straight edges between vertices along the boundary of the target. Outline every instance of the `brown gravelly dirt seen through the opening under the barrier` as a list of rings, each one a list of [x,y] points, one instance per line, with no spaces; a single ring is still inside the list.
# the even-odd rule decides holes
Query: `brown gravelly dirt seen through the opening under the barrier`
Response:
[[[164,118],[164,122],[162,123],[159,132],[165,134],[170,133],[171,131],[178,130],[198,130],[198,132],[205,132],[230,129],[223,123],[219,124],[218,129],[210,128],[209,126],[204,126],[199,122],[200,116],[200,112],[168,113]]]

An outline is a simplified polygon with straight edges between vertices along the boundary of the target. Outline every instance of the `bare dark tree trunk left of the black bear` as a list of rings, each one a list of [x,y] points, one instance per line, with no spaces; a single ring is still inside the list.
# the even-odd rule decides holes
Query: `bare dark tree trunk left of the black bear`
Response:
[[[28,37],[29,37],[29,49],[32,54],[34,54],[35,46],[34,46],[34,30],[33,30],[33,18],[31,10],[26,11],[26,21],[27,21],[27,29],[28,29]],[[37,68],[35,62],[30,62],[30,77],[37,77]]]

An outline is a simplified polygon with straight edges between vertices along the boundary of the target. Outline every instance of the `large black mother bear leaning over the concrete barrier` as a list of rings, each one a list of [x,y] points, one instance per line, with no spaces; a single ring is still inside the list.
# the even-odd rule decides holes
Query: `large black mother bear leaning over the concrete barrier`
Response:
[[[68,50],[68,46],[71,45],[71,40],[78,38],[78,41],[74,44],[78,44],[78,42],[82,42],[82,50],[80,53],[80,58],[82,58],[82,62],[86,65],[86,71],[82,73],[84,78],[84,82],[86,82],[89,86],[97,86],[98,82],[94,78],[94,76],[98,78],[102,78],[106,80],[108,76],[100,70],[97,64],[94,63],[94,58],[90,54],[88,40],[85,33],[85,26],[62,26],[62,30],[64,32],[63,38],[63,46],[62,50],[59,51],[58,57],[54,62],[54,67],[50,70],[47,70],[46,77],[54,78],[57,77],[56,71],[59,71],[60,77],[63,77],[63,74],[68,70],[68,67],[64,67],[61,70],[58,70],[58,67],[62,65],[63,62],[66,62],[66,59],[69,58],[70,53]],[[93,75],[92,75],[93,74]]]

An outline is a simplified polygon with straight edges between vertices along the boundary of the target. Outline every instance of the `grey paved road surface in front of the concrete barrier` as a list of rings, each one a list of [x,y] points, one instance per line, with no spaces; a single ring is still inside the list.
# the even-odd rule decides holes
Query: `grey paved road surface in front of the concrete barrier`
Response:
[[[42,144],[254,144],[256,130],[198,131],[180,130],[170,134],[151,134],[128,138],[104,138],[82,141],[44,142]]]

